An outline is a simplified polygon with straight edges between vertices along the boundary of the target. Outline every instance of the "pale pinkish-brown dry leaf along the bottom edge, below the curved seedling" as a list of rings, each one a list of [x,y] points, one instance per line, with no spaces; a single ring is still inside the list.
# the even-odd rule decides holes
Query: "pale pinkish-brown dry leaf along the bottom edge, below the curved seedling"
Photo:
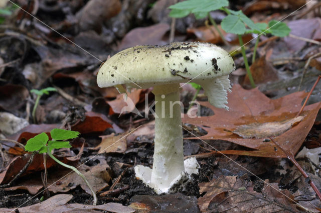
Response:
[[[109,202],[102,205],[86,205],[80,203],[67,203],[73,196],[71,194],[57,194],[45,201],[34,205],[20,208],[0,208],[1,212],[14,212],[16,209],[19,212],[123,212],[132,213],[135,210],[131,207],[124,206],[121,203]]]

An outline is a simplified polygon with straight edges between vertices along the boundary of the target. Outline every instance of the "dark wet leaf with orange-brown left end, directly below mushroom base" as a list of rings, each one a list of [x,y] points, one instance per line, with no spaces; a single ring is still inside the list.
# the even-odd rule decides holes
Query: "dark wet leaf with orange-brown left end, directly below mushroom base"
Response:
[[[138,212],[200,212],[195,196],[181,193],[165,195],[134,195],[130,199],[130,207]]]

